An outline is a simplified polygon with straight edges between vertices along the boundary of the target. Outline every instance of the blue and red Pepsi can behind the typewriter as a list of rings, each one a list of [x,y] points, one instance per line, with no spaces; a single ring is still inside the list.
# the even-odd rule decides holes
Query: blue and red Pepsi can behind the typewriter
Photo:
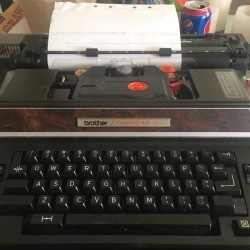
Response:
[[[182,34],[207,34],[210,29],[212,12],[210,5],[203,1],[189,1],[181,13]]]

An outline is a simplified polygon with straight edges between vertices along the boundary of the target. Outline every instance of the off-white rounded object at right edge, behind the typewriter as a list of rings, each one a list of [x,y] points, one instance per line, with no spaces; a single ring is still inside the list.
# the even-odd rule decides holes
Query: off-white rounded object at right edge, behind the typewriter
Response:
[[[243,34],[248,43],[250,43],[249,25],[250,25],[250,5],[242,5],[236,11],[231,32]]]

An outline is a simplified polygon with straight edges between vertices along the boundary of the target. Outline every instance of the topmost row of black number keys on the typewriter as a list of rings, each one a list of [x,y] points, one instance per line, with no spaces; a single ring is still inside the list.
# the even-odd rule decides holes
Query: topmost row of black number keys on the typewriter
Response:
[[[76,163],[82,164],[86,162],[91,163],[156,163],[164,164],[170,163],[226,163],[235,164],[235,154],[231,151],[180,151],[180,150],[45,150],[35,151],[30,150],[25,153],[24,162],[27,164],[34,163]]]

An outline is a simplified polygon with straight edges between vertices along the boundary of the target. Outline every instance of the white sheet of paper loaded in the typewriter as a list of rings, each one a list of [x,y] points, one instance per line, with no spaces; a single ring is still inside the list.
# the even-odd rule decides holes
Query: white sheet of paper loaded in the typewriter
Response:
[[[181,49],[174,5],[121,5],[56,3],[49,32],[48,51],[158,51]],[[180,64],[180,56],[172,60]],[[66,60],[67,59],[67,60]],[[169,59],[169,58],[168,58]],[[65,61],[66,60],[66,61]],[[139,63],[138,63],[139,62]],[[50,68],[119,64],[166,64],[154,55],[53,55]]]

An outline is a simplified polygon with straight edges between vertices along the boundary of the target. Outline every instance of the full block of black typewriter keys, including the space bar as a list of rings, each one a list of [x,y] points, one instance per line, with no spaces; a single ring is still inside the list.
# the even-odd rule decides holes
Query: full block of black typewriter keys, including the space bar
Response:
[[[209,236],[220,218],[241,233],[250,158],[239,168],[231,147],[139,145],[14,150],[0,162],[0,213],[21,216],[23,235]]]

